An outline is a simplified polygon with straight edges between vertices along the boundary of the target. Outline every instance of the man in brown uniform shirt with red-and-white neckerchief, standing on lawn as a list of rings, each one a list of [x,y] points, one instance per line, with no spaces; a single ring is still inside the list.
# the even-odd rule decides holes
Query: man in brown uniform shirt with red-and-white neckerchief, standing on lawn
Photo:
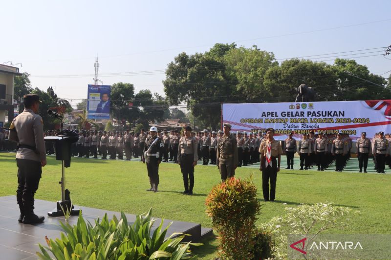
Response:
[[[266,129],[266,139],[262,140],[260,146],[262,171],[263,199],[274,201],[276,198],[277,173],[280,171],[282,147],[279,141],[274,140],[274,129]],[[270,179],[270,197],[269,197]]]

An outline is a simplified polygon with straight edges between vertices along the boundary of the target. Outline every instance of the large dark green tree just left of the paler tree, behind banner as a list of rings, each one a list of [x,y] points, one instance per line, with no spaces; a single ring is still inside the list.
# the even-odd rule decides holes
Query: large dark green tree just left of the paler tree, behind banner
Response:
[[[168,65],[163,80],[170,104],[187,104],[201,126],[217,129],[221,102],[237,100],[236,83],[226,72],[224,55],[236,45],[215,44],[209,52],[180,53]]]

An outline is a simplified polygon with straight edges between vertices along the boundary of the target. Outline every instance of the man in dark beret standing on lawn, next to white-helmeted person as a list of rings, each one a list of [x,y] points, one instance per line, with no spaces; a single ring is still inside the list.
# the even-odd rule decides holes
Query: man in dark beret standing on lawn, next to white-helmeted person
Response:
[[[185,136],[181,137],[178,145],[178,164],[183,177],[183,194],[193,195],[194,187],[194,166],[197,165],[197,139],[192,137],[192,128],[184,128]],[[190,186],[189,186],[190,180]]]

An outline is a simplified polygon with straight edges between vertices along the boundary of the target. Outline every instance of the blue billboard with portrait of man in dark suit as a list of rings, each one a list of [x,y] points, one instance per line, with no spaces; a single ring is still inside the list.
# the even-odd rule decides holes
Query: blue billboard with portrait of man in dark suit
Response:
[[[88,85],[88,119],[110,119],[110,90],[108,85]]]

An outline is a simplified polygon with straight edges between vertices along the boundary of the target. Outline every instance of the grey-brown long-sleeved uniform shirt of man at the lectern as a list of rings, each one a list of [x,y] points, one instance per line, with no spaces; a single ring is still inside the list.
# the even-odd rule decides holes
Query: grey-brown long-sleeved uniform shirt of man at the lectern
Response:
[[[8,139],[18,141],[20,145],[35,147],[35,150],[19,148],[16,159],[34,161],[46,160],[46,148],[43,140],[43,120],[31,109],[24,109],[11,123]]]

